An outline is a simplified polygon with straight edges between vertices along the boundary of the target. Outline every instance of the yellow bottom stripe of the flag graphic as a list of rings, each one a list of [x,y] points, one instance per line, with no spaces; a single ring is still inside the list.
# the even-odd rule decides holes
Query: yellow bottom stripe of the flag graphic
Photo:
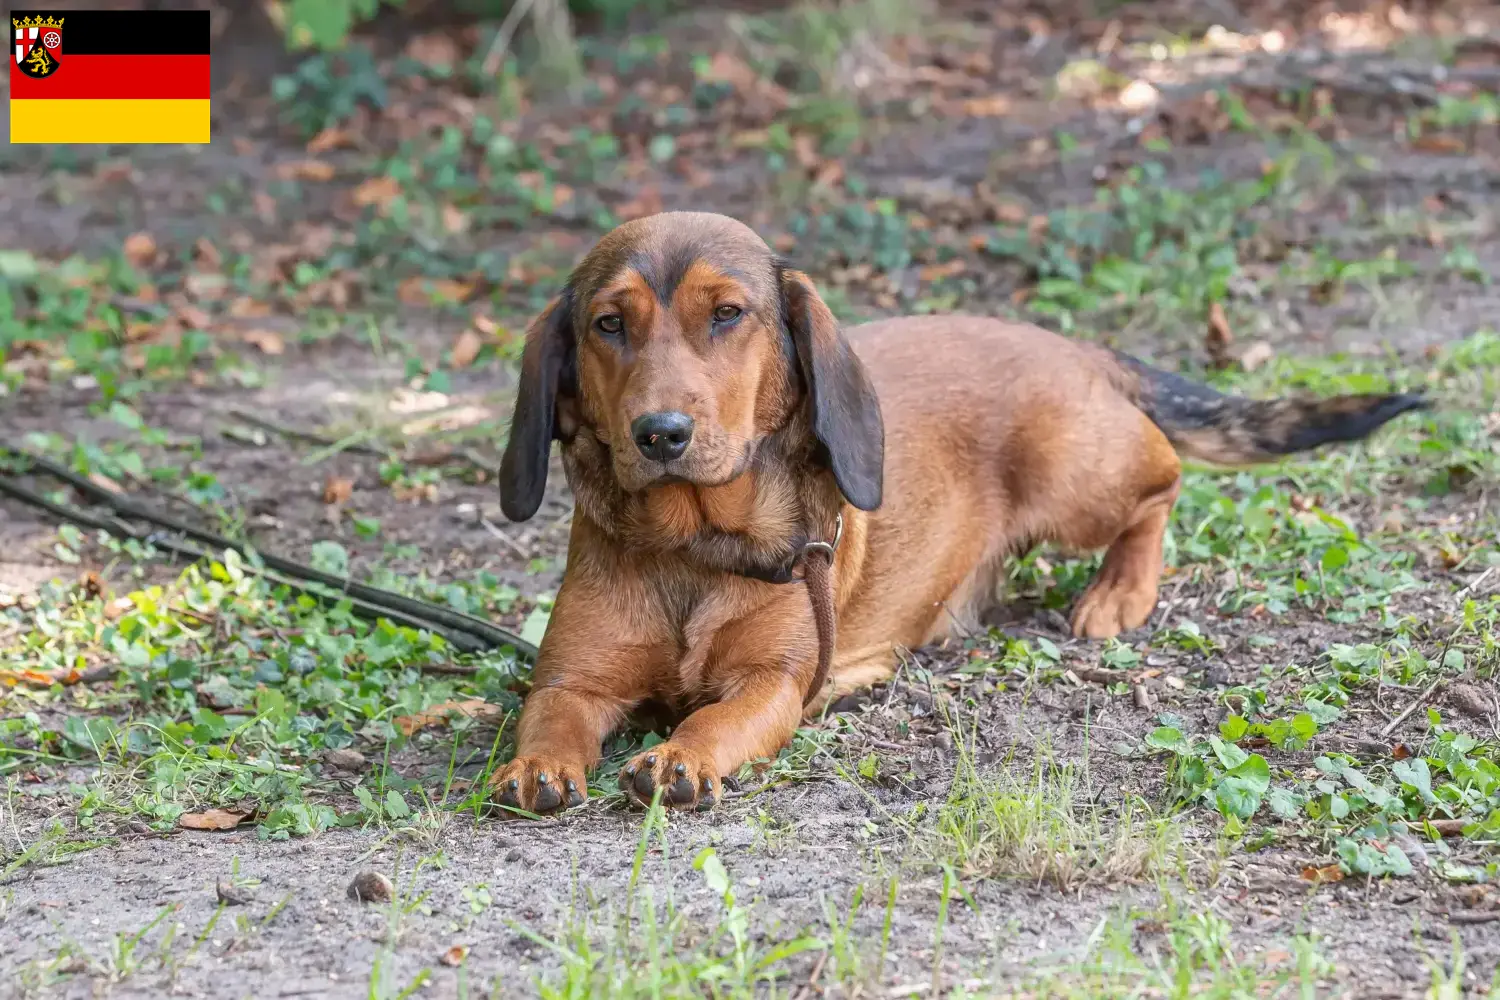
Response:
[[[207,100],[12,100],[12,142],[207,142]]]

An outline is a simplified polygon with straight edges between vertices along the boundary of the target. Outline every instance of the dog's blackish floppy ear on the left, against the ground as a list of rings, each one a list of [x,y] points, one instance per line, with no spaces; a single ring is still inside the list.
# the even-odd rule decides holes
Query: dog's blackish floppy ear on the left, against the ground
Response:
[[[510,520],[526,520],[542,507],[548,462],[556,436],[558,387],[572,382],[573,295],[562,292],[531,321],[520,354],[516,411],[500,459],[500,508]],[[564,387],[572,391],[573,387]]]

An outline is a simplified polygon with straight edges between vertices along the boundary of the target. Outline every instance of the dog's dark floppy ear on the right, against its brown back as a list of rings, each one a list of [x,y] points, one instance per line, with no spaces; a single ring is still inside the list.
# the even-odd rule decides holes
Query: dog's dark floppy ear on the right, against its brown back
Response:
[[[860,510],[874,510],[885,472],[885,424],[864,364],[807,274],[782,271],[782,315],[812,396],[813,433],[828,450],[838,492]]]

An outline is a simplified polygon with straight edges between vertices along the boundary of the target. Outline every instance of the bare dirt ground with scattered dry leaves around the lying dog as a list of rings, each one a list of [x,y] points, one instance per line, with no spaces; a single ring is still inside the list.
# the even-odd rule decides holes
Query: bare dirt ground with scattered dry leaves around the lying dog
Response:
[[[318,543],[336,538],[352,576],[400,580],[418,594],[483,573],[492,594],[507,594],[486,598],[483,613],[524,628],[560,580],[572,504],[555,468],[537,519],[510,525],[500,513],[489,469],[508,417],[512,331],[597,237],[596,205],[616,217],[718,210],[746,217],[771,240],[790,234],[788,244],[820,283],[837,289],[846,316],[950,309],[1029,315],[1202,375],[1214,345],[1212,334],[1204,342],[1206,301],[1197,298],[1186,256],[1150,264],[1166,276],[1154,271],[1148,283],[1166,291],[1149,301],[1143,292],[1089,285],[1098,301],[1068,300],[1072,307],[1062,316],[1028,312],[1047,297],[1036,289],[1030,258],[984,250],[986,240],[1029,228],[1032,246],[1042,246],[1042,232],[1059,234],[1065,225],[1062,216],[1048,223],[1048,213],[1095,204],[1101,184],[1188,192],[1254,183],[1287,150],[1296,160],[1290,169],[1312,175],[1290,204],[1276,196],[1245,204],[1227,193],[1222,204],[1204,196],[1192,208],[1174,208],[1170,195],[1149,193],[1143,196],[1166,199],[1156,208],[1166,220],[1142,214],[1130,216],[1130,225],[1158,225],[1158,238],[1180,241],[1185,253],[1198,226],[1208,234],[1203,259],[1215,241],[1244,247],[1263,234],[1274,244],[1275,252],[1245,256],[1248,267],[1222,295],[1234,330],[1232,354],[1252,348],[1275,358],[1269,367],[1244,361],[1244,391],[1323,390],[1356,369],[1420,378],[1410,373],[1449,364],[1462,349],[1455,345],[1492,331],[1500,315],[1500,135],[1494,117],[1443,120],[1425,139],[1413,138],[1410,121],[1448,108],[1443,96],[1496,91],[1500,16],[1494,4],[1366,6],[942,4],[926,24],[926,42],[904,31],[844,36],[825,82],[856,93],[860,135],[834,153],[796,139],[796,127],[780,147],[774,130],[765,138],[777,121],[792,120],[777,103],[777,91],[795,90],[790,79],[754,82],[726,69],[720,79],[740,100],[732,114],[698,133],[681,130],[676,153],[652,154],[652,135],[670,120],[662,108],[692,105],[682,67],[693,55],[728,51],[716,46],[732,34],[723,27],[730,13],[699,10],[652,22],[650,31],[591,28],[590,73],[608,78],[612,94],[600,130],[614,130],[614,157],[627,166],[590,177],[580,160],[568,159],[584,154],[558,136],[592,121],[598,108],[534,94],[507,129],[518,139],[552,142],[554,159],[574,172],[549,160],[546,169],[530,168],[544,175],[540,181],[522,177],[519,187],[494,196],[501,207],[520,204],[537,184],[552,184],[550,207],[534,204],[520,222],[465,201],[470,219],[444,229],[441,208],[429,217],[414,196],[410,219],[392,225],[412,232],[436,225],[441,235],[441,250],[429,247],[424,258],[422,280],[429,283],[414,292],[405,282],[417,279],[402,277],[416,259],[410,253],[429,250],[420,238],[402,243],[382,229],[388,216],[370,223],[370,207],[380,214],[388,199],[363,186],[393,162],[422,160],[416,180],[404,183],[438,190],[434,205],[442,204],[447,160],[429,147],[441,142],[452,115],[472,114],[488,97],[428,76],[393,93],[381,112],[362,109],[330,124],[346,133],[309,151],[306,133],[288,123],[303,97],[267,91],[270,67],[291,72],[297,60],[278,52],[273,33],[236,42],[248,21],[236,15],[224,27],[224,12],[216,12],[225,34],[214,60],[220,49],[238,49],[216,73],[208,147],[9,147],[0,190],[3,246],[39,259],[76,253],[98,261],[122,247],[124,256],[140,256],[129,237],[150,232],[144,265],[160,274],[153,294],[176,310],[177,334],[202,325],[195,322],[202,316],[186,312],[196,309],[212,313],[216,343],[182,372],[147,379],[129,394],[140,423],[154,432],[142,439],[100,388],[111,364],[134,367],[142,379],[148,372],[141,369],[156,364],[132,358],[152,343],[132,339],[132,295],[141,292],[110,291],[124,301],[118,357],[84,361],[74,348],[57,354],[21,337],[8,342],[0,360],[15,378],[0,382],[3,444],[66,456],[88,442],[117,457],[135,451],[152,468],[190,465],[222,490],[213,504],[224,523],[267,550],[314,559]],[[460,52],[482,52],[477,30],[435,24],[423,37],[458,39]],[[1224,30],[1258,40],[1203,42]],[[1268,33],[1275,42],[1266,42]],[[408,34],[394,19],[370,31],[382,72]],[[648,36],[666,39],[666,54],[644,58],[645,69],[621,67],[624,39]],[[782,36],[734,37],[759,39],[740,49],[750,52],[790,45]],[[261,48],[250,51],[255,45]],[[408,45],[410,58],[429,64],[441,57],[412,51]],[[606,69],[610,52],[616,61]],[[652,82],[642,87],[640,79]],[[1131,81],[1142,85],[1132,91]],[[670,87],[675,94],[663,93]],[[640,99],[630,105],[620,99],[624,93]],[[1236,94],[1234,106],[1263,123],[1286,121],[1234,127],[1230,102],[1206,97],[1221,93]],[[758,108],[758,100],[770,103]],[[806,105],[802,114],[806,121]],[[1122,180],[1148,160],[1160,174]],[[855,195],[849,178],[856,178]],[[824,217],[832,217],[849,202],[888,204],[891,213],[876,210],[874,222],[808,235],[806,225],[820,211],[814,205],[831,205]],[[880,219],[892,217],[904,222],[886,232]],[[1086,235],[1072,246],[1071,259],[1089,259]],[[224,258],[230,292],[190,291],[188,277],[208,270],[210,252]],[[504,261],[498,271],[486,270],[486,253]],[[894,264],[886,253],[897,255]],[[1282,267],[1288,253],[1324,270],[1293,280]],[[256,270],[266,258],[270,279]],[[1341,270],[1328,270],[1329,259]],[[1174,267],[1182,280],[1172,277]],[[471,277],[478,273],[486,276]],[[170,291],[176,280],[188,289],[177,298]],[[423,301],[441,298],[444,280],[470,282],[462,301]],[[1329,292],[1334,286],[1338,294]],[[250,304],[240,309],[240,300]],[[32,304],[40,310],[45,303]],[[68,322],[66,312],[52,315]],[[468,330],[484,334],[483,348],[459,364]],[[1494,370],[1450,364],[1460,388],[1449,387],[1440,409],[1460,414],[1454,420],[1466,418],[1466,408],[1494,409]],[[434,388],[438,370],[444,381]],[[1476,394],[1461,397],[1462,385],[1478,387]],[[423,418],[430,423],[418,426]],[[1388,682],[1382,667],[1364,687],[1350,682],[1342,712],[1320,723],[1311,744],[1272,750],[1252,736],[1245,745],[1258,747],[1275,780],[1292,784],[1312,783],[1317,762],[1340,753],[1372,760],[1386,774],[1392,757],[1401,762],[1413,748],[1418,759],[1431,756],[1425,747],[1443,732],[1473,744],[1466,753],[1474,760],[1488,753],[1492,762],[1496,712],[1482,697],[1467,711],[1472,699],[1454,693],[1486,696],[1496,684],[1500,447],[1486,459],[1484,448],[1500,439],[1482,435],[1500,433],[1500,421],[1485,427],[1476,432],[1480,459],[1466,459],[1462,475],[1456,459],[1402,451],[1398,438],[1414,435],[1410,429],[1370,445],[1372,459],[1354,451],[1347,466],[1322,457],[1318,465],[1256,472],[1258,478],[1203,474],[1194,480],[1196,499],[1184,501],[1190,513],[1174,525],[1182,571],[1164,582],[1161,615],[1150,627],[1125,643],[1070,639],[1065,606],[1032,585],[1076,589],[1071,567],[1089,564],[1028,561],[1012,580],[1010,616],[994,631],[912,651],[896,682],[801,733],[789,754],[746,775],[714,811],[670,816],[664,832],[644,832],[642,813],[618,798],[596,798],[542,823],[452,808],[447,787],[482,781],[492,766],[492,721],[452,739],[428,732],[384,747],[354,744],[366,763],[381,762],[408,789],[428,789],[426,805],[402,822],[366,816],[279,838],[252,822],[231,831],[183,829],[135,811],[136,796],[159,790],[140,784],[144,772],[129,760],[86,765],[18,736],[33,732],[28,714],[34,732],[64,732],[70,714],[146,718],[146,700],[135,700],[144,696],[126,675],[88,694],[76,687],[0,688],[0,715],[16,721],[0,733],[0,750],[3,741],[16,748],[16,756],[0,756],[0,996],[520,997],[550,990],[634,997],[651,994],[651,982],[656,996],[1491,996],[1500,975],[1496,829],[1431,840],[1420,825],[1396,823],[1394,840],[1372,834],[1371,843],[1400,843],[1413,871],[1340,870],[1335,843],[1358,841],[1352,828],[1330,832],[1326,816],[1314,817],[1323,826],[1308,816],[1278,823],[1264,811],[1254,823],[1228,825],[1204,801],[1182,804],[1162,756],[1143,742],[1158,727],[1222,732],[1228,717],[1250,714],[1244,699],[1258,696],[1246,693],[1290,705],[1311,690],[1302,685],[1348,673],[1340,667],[1341,651],[1378,648],[1386,651],[1382,663],[1395,664],[1392,649],[1401,657],[1416,649],[1424,670],[1437,664],[1442,672],[1449,654],[1464,649],[1467,660],[1460,657],[1440,688],[1426,690],[1440,673],[1416,670]],[[422,460],[435,448],[436,459]],[[386,468],[390,453],[408,459],[402,478],[392,480]],[[1384,462],[1386,478],[1359,486],[1362,462]],[[1449,477],[1446,492],[1424,490],[1418,477],[1428,474]],[[330,504],[333,483],[346,486]],[[150,477],[126,484],[153,496]],[[1384,597],[1359,613],[1317,601],[1269,613],[1266,604],[1228,603],[1232,592],[1256,591],[1245,579],[1254,571],[1191,555],[1191,540],[1203,534],[1192,517],[1209,517],[1221,489],[1242,498],[1262,484],[1280,490],[1290,519],[1322,504],[1354,534],[1383,538],[1398,553],[1382,564],[1384,571],[1408,579],[1388,580],[1380,585],[1386,591],[1362,583],[1362,592]],[[180,499],[183,490],[168,492],[178,495],[168,510],[196,516]],[[378,532],[358,529],[362,522],[378,522]],[[92,570],[105,600],[146,582],[171,586],[182,571],[160,561],[136,565],[88,543],[76,546],[78,564],[78,556],[58,556],[58,546],[54,520],[0,498],[0,595],[8,595],[0,613],[10,609],[10,618],[0,618],[0,655],[15,649],[21,666],[30,663],[20,660],[21,646],[4,643],[24,642],[22,630],[34,622],[21,612],[44,600],[34,595],[48,580],[74,586]],[[1329,574],[1338,570],[1328,558],[1322,565]],[[1468,631],[1455,640],[1464,621]],[[1206,640],[1194,645],[1200,633]],[[1020,642],[1029,643],[1028,655],[1041,657],[1024,669],[1008,660]],[[1119,679],[1090,679],[1090,672],[1112,669],[1122,672]],[[507,688],[522,690],[524,678]],[[1396,718],[1413,702],[1418,711]],[[1442,711],[1446,730],[1434,727],[1428,703]],[[618,766],[620,754],[612,760]],[[345,814],[358,808],[358,781],[357,768],[340,772],[324,763],[315,787],[320,801]],[[984,783],[982,795],[974,781]],[[432,801],[438,787],[442,804]],[[1014,808],[1022,819],[970,816],[976,826],[954,834],[945,823],[956,822],[960,799]],[[1134,832],[1122,832],[1131,822]],[[975,831],[987,847],[975,847]],[[48,847],[33,850],[38,844]],[[716,972],[732,936],[723,930],[723,894],[693,867],[702,849],[728,868],[753,949],[818,939],[818,946],[772,963],[776,982]],[[393,877],[394,898],[351,898],[362,871]],[[621,924],[621,910],[632,906],[634,921]],[[662,987],[669,973],[640,972],[672,966],[651,958],[644,910],[664,915],[652,933],[670,931],[664,954],[678,957],[686,985]],[[884,961],[873,960],[878,951]],[[602,958],[606,952],[615,958]],[[720,958],[710,961],[708,952]],[[597,970],[610,969],[609,961],[632,967],[634,978],[615,976],[606,988],[609,975]]]

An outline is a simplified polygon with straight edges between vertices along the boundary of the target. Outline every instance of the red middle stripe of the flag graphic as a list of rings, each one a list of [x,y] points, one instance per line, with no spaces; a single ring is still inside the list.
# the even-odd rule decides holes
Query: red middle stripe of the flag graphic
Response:
[[[207,55],[69,55],[64,42],[62,66],[44,79],[16,66],[14,37],[9,58],[12,100],[208,99]]]

